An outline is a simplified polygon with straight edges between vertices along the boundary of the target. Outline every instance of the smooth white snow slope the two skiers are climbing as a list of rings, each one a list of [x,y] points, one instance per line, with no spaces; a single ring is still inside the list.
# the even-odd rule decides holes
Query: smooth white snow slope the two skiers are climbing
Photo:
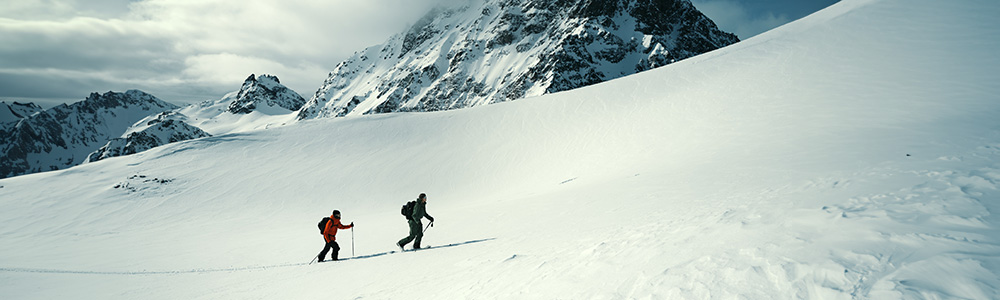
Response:
[[[578,90],[3,179],[0,295],[1000,298],[996,15],[845,0]],[[444,247],[387,254],[421,192]],[[333,209],[357,258],[307,265]]]

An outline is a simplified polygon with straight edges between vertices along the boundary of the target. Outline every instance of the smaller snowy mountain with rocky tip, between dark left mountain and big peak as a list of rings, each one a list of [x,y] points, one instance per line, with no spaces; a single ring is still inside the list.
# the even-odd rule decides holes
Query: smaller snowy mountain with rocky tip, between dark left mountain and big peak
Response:
[[[267,128],[292,120],[305,99],[272,75],[250,77],[240,90],[220,100],[205,101],[150,115],[88,156],[88,161],[134,154],[168,143]]]

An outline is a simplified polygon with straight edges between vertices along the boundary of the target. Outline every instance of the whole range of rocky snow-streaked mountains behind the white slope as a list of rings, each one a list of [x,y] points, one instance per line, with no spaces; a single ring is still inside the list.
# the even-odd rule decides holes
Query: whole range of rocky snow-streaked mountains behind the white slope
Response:
[[[308,100],[277,77],[185,107],[138,90],[0,102],[0,178],[299,120],[436,111],[591,85],[739,40],[689,0],[485,0],[438,8],[338,64]]]

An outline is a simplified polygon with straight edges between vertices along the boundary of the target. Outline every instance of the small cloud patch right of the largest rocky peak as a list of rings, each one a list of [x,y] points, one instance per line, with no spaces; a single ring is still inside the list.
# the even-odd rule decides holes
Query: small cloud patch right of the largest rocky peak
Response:
[[[733,0],[693,0],[694,6],[707,15],[719,29],[732,32],[741,40],[771,30],[791,21],[784,13],[752,12],[746,5]]]

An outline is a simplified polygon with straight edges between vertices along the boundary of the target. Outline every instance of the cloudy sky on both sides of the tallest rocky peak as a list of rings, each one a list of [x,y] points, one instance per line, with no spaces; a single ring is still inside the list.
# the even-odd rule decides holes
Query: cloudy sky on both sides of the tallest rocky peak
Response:
[[[141,89],[215,100],[250,74],[309,98],[337,63],[467,0],[0,0],[0,100],[43,107]],[[692,0],[741,39],[837,0]]]

